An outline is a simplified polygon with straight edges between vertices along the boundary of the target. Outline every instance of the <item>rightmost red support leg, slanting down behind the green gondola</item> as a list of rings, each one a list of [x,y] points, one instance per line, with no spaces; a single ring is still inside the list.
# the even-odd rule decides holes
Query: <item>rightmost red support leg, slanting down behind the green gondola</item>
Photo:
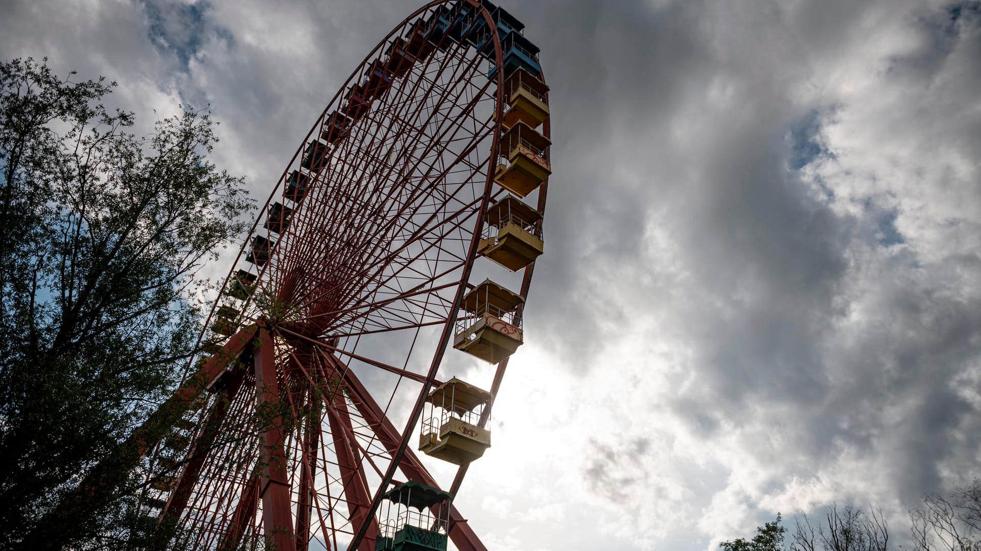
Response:
[[[347,369],[335,356],[327,355],[327,357],[334,363],[332,367],[335,372],[343,376],[347,387],[354,394],[354,407],[358,409],[361,417],[372,427],[372,430],[378,436],[382,445],[385,446],[387,452],[394,454],[395,450],[398,449],[401,436],[398,434],[395,426],[391,424],[391,421],[388,420],[385,411],[372,398],[368,389],[361,384],[361,381],[351,370]],[[405,454],[402,455],[402,461],[398,467],[401,469],[402,474],[410,480],[416,480],[436,488],[439,487],[436,479],[430,475],[429,471],[426,470],[426,467],[423,466],[412,450],[405,450]],[[467,524],[466,519],[457,511],[456,507],[451,506],[449,509],[449,529],[447,532],[449,538],[453,540],[453,544],[456,545],[459,551],[488,551],[488,548],[477,537],[477,532]]]

